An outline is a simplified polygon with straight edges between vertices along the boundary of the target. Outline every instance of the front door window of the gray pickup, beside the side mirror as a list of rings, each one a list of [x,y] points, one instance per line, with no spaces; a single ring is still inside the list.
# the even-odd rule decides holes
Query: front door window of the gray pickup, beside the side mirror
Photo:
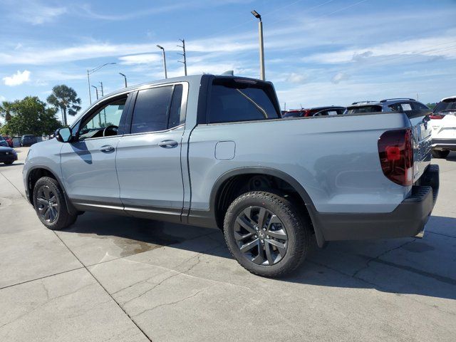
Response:
[[[118,128],[126,101],[126,97],[119,98],[96,110],[79,129],[79,139],[96,138],[101,134],[98,132],[108,126]],[[109,135],[115,135],[115,129],[110,130]]]

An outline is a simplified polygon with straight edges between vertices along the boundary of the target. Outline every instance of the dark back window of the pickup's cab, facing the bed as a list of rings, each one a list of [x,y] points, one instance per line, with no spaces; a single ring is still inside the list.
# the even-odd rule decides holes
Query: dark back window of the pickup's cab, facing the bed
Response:
[[[209,123],[281,118],[274,98],[274,89],[265,83],[215,79],[210,95]]]

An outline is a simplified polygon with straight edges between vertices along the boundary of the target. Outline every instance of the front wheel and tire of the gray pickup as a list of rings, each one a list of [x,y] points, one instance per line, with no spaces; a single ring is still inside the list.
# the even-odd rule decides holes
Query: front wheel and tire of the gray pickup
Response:
[[[33,207],[41,223],[48,229],[60,230],[76,221],[70,214],[65,196],[58,182],[51,177],[41,177],[33,187]]]

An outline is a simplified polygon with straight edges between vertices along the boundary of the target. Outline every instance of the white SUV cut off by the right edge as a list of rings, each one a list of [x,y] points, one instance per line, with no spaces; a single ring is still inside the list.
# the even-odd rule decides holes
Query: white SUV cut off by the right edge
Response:
[[[456,151],[456,95],[442,98],[429,118],[432,157],[446,158],[450,151]]]

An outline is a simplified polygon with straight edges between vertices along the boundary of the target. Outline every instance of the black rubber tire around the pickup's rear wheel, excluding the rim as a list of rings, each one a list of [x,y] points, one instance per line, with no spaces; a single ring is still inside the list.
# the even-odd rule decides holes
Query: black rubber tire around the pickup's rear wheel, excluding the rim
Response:
[[[266,194],[265,192],[262,192]],[[296,252],[299,250],[300,244],[306,244],[307,236],[306,234],[301,234],[297,232],[297,229],[302,229],[305,231],[302,226],[302,221],[299,216],[296,214],[291,202],[287,201],[283,197],[279,197],[281,202],[283,202],[289,209],[295,211],[296,216],[290,217],[289,213],[283,209],[280,205],[271,198],[270,195],[260,195],[259,192],[249,192],[244,194],[232,202],[227,210],[224,220],[224,235],[227,240],[227,244],[230,252],[232,252],[233,257],[237,259],[239,264],[241,264],[248,271],[252,271],[254,274],[259,274],[261,276],[276,276],[277,274],[285,273],[288,269],[294,269],[293,264],[296,262],[295,256]],[[261,198],[260,198],[261,197]],[[247,259],[247,257],[242,253],[237,245],[236,239],[234,239],[234,224],[236,218],[239,214],[242,213],[247,207],[264,207],[269,211],[276,214],[277,217],[284,224],[286,229],[286,234],[288,236],[288,247],[286,250],[285,257],[281,259],[277,264],[274,265],[258,265],[254,262]],[[304,239],[302,238],[304,237]]]

